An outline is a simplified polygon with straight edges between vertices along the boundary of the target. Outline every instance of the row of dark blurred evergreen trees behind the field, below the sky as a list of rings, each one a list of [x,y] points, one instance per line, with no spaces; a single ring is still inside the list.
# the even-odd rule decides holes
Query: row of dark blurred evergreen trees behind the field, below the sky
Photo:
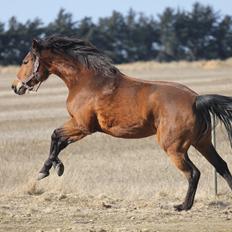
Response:
[[[0,65],[19,64],[33,38],[52,34],[89,40],[115,63],[232,56],[232,16],[196,2],[191,11],[168,7],[153,17],[130,9],[125,15],[113,11],[97,22],[90,17],[74,21],[64,9],[47,25],[39,18],[23,24],[13,16],[7,25],[0,22]]]

